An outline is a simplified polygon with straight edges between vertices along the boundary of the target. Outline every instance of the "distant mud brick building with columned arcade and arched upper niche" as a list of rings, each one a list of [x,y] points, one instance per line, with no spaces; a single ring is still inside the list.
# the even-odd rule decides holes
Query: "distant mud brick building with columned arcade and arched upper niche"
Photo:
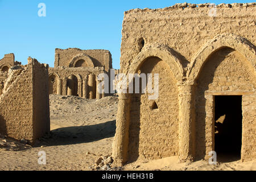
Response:
[[[49,68],[49,94],[84,98],[102,98],[97,92],[97,76],[109,75],[112,56],[109,51],[78,48],[55,49],[54,68]]]

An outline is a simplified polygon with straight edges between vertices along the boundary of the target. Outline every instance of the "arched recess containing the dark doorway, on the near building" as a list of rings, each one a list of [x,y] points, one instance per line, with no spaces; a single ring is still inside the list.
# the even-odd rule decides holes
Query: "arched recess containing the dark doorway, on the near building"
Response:
[[[196,155],[216,150],[217,159],[241,159],[248,122],[243,97],[255,89],[254,68],[240,52],[221,47],[207,57],[196,82]]]

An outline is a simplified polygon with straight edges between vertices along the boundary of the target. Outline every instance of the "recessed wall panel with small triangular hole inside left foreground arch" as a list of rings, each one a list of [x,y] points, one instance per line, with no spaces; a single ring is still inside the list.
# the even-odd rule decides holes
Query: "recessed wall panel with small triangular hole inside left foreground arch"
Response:
[[[149,100],[150,93],[131,94],[129,160],[177,155],[179,104],[174,73],[159,57],[148,57],[139,72],[151,73],[152,80],[159,74],[159,97]]]

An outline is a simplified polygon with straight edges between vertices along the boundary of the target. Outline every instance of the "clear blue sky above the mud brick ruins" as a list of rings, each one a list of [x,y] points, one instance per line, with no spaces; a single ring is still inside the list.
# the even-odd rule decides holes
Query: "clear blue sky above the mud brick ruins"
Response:
[[[14,53],[27,64],[27,57],[54,65],[55,48],[108,49],[113,68],[119,69],[123,12],[146,7],[157,9],[183,1],[128,0],[0,0],[0,59]],[[187,1],[188,3],[245,3],[252,1]],[[38,16],[45,3],[46,16]]]

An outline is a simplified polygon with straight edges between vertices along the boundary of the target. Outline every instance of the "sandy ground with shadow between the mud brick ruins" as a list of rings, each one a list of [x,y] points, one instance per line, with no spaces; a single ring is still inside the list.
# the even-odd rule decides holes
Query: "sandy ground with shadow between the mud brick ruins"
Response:
[[[117,97],[88,100],[50,95],[51,135],[35,147],[0,136],[0,170],[92,170],[100,156],[112,154]],[[38,164],[38,152],[46,152],[46,165]],[[124,170],[256,170],[256,160],[178,163],[177,156],[138,160]]]

